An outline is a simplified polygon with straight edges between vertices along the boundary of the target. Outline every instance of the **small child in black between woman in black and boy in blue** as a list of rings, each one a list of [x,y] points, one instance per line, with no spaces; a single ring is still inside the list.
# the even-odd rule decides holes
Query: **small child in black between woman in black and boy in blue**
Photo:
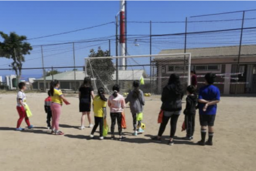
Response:
[[[184,110],[185,124],[187,136],[184,140],[192,140],[195,131],[196,105],[198,98],[196,96],[196,88],[193,85],[187,87],[186,109]]]

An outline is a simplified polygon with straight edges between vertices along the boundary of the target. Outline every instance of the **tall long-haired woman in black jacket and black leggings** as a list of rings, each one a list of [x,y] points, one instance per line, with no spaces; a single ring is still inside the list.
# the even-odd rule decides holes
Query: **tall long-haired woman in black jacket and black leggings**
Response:
[[[158,136],[152,139],[154,142],[161,142],[161,136],[163,135],[166,125],[170,119],[170,140],[168,145],[173,145],[173,137],[176,132],[176,124],[181,114],[182,99],[183,87],[181,86],[180,77],[177,74],[171,74],[169,82],[163,88],[161,95],[161,109],[164,111],[164,115],[158,131]]]

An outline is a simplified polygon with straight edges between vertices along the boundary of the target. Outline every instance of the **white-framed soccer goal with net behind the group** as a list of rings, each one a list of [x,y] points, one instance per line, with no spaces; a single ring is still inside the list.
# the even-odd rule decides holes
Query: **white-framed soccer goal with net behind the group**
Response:
[[[92,79],[96,89],[105,88],[111,93],[112,86],[120,85],[126,94],[133,89],[134,80],[141,83],[140,89],[147,95],[161,94],[169,76],[176,73],[186,89],[190,85],[191,53],[108,56],[85,58],[86,76]]]

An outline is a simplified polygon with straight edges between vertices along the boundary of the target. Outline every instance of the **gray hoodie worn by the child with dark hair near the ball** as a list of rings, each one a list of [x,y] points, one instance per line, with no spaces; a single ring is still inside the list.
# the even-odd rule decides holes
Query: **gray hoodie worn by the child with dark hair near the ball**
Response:
[[[131,113],[140,113],[143,111],[143,106],[145,105],[145,98],[143,95],[143,91],[140,91],[139,98],[135,99],[133,97],[134,90],[130,91],[128,96],[125,98],[125,103],[130,102]]]

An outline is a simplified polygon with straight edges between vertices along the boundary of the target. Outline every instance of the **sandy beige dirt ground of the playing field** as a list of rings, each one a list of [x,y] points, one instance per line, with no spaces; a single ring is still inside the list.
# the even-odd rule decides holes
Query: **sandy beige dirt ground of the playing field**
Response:
[[[198,146],[200,128],[196,115],[194,140],[181,140],[184,115],[178,120],[175,144],[168,146],[170,126],[166,128],[163,143],[151,142],[158,132],[157,116],[161,101],[149,97],[144,121],[146,130],[137,137],[133,132],[132,117],[127,107],[123,130],[124,142],[89,140],[91,128],[78,130],[81,114],[78,98],[68,97],[71,105],[63,106],[60,127],[64,136],[54,136],[46,130],[43,100],[46,94],[27,94],[33,112],[34,130],[14,131],[18,114],[16,95],[0,94],[0,170],[255,170],[256,168],[256,98],[223,97],[218,106],[214,146]],[[109,111],[109,110],[108,110]],[[108,115],[108,124],[110,117]],[[88,122],[87,124],[88,125]],[[22,127],[25,127],[22,122]],[[117,131],[117,127],[116,130]]]

